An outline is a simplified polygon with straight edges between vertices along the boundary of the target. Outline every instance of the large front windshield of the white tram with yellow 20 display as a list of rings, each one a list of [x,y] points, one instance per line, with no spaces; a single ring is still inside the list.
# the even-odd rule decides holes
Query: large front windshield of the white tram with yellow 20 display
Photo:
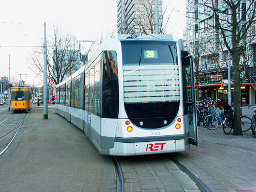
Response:
[[[121,42],[124,106],[129,118],[174,119],[180,102],[175,42],[150,40]],[[169,119],[168,124],[170,121]],[[156,127],[156,125],[148,126]]]

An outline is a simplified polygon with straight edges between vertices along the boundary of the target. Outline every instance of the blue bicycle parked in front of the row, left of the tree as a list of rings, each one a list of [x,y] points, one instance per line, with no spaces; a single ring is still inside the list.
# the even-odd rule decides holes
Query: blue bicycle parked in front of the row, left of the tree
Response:
[[[204,119],[204,124],[209,130],[216,130],[219,124],[222,124],[225,118],[223,111],[220,112],[220,115],[216,112],[216,103],[218,100],[220,99],[216,99],[214,104],[212,105],[211,114],[207,115]],[[221,107],[220,110],[222,110]]]

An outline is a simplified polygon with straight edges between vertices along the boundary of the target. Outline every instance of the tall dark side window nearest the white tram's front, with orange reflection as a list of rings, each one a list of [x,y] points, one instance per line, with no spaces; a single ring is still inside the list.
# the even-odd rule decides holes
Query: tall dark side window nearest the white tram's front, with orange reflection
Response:
[[[119,89],[117,54],[103,52],[102,67],[102,118],[118,118]]]

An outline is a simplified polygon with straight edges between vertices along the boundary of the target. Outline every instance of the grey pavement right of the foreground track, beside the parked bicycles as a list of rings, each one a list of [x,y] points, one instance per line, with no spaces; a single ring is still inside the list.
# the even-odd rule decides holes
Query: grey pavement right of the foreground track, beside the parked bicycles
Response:
[[[251,117],[253,108],[244,106],[242,114]],[[225,135],[222,126],[211,131],[201,123],[198,132],[199,146],[191,145],[175,158],[212,192],[256,192],[256,138],[251,130],[243,136]]]

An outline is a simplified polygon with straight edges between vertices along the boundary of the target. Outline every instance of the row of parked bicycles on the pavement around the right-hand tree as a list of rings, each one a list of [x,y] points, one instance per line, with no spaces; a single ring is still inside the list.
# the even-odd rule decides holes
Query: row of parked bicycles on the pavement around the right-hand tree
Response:
[[[234,129],[233,110],[230,105],[226,104],[224,108],[218,105],[220,99],[209,99],[197,101],[197,124],[198,126],[203,123],[203,126],[209,130],[216,130],[219,125],[223,126],[224,134],[228,135]],[[248,106],[250,107],[250,105]],[[251,129],[252,136],[255,137],[256,133],[256,106],[254,107],[254,114],[252,118],[241,115],[240,122],[242,132]],[[241,108],[242,114],[242,108]]]

